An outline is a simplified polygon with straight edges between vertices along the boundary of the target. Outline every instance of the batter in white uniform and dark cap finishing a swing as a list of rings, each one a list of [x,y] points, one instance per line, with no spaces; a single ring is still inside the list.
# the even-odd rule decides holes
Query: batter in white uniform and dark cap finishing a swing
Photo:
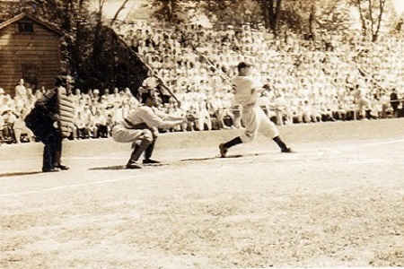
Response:
[[[252,64],[241,62],[237,65],[239,74],[233,77],[232,84],[235,100],[242,105],[242,123],[245,126],[244,133],[227,143],[219,145],[220,155],[226,158],[229,148],[239,143],[250,143],[258,132],[273,139],[280,147],[281,152],[292,152],[279,137],[277,126],[269,120],[265,112],[257,104],[257,94],[265,91],[260,82],[251,76]]]

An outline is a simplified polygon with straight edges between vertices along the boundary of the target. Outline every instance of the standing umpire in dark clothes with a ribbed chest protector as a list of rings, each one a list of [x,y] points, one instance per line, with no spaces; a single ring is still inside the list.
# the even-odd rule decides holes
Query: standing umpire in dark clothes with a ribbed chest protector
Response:
[[[43,172],[67,170],[61,162],[62,140],[73,132],[75,107],[67,97],[65,76],[55,78],[55,88],[48,90],[35,102],[31,113],[25,117],[26,125],[45,144],[43,150]]]

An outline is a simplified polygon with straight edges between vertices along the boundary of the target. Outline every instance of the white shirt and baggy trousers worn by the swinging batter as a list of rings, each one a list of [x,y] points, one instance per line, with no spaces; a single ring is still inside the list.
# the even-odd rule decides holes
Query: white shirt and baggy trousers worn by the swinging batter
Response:
[[[277,126],[269,120],[265,112],[257,104],[257,88],[262,84],[250,76],[236,75],[232,79],[234,98],[242,105],[242,123],[245,131],[240,137],[242,143],[255,139],[258,132],[273,139],[279,135]]]

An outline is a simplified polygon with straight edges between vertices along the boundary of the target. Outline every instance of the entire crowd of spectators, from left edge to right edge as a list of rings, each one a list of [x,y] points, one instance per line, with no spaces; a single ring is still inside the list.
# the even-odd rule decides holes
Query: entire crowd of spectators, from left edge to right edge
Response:
[[[278,125],[402,116],[404,39],[396,35],[382,35],[378,42],[356,33],[307,39],[249,24],[167,28],[145,21],[116,22],[114,29],[150,68],[149,76],[135,96],[129,89],[73,89],[76,130],[71,139],[108,137],[111,127],[139,105],[139,95],[155,89],[162,111],[197,119],[162,131],[241,127],[230,84],[241,61],[255,64],[255,75],[268,90],[259,105]],[[44,91],[24,90],[20,82],[11,98],[0,89],[0,127],[13,126],[20,136],[22,126],[25,139],[32,140],[22,119]]]

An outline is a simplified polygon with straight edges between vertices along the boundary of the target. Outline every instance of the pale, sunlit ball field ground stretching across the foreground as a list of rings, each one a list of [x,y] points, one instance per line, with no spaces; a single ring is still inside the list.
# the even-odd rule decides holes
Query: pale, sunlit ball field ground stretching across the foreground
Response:
[[[215,158],[239,130],[162,134],[160,166],[130,146],[0,147],[0,268],[404,266],[404,120],[283,126]]]

